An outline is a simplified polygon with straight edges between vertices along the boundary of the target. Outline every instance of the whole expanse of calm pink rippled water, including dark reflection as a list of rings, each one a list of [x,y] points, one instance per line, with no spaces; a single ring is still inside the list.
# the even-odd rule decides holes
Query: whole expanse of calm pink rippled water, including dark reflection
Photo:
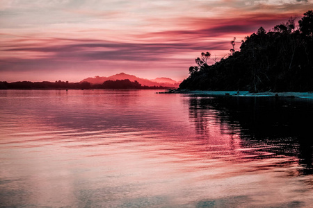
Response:
[[[0,91],[0,207],[312,207],[313,101]]]

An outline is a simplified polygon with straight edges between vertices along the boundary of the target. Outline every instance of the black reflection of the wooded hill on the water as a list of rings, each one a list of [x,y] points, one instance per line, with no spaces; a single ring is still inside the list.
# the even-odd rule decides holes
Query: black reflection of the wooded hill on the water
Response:
[[[220,133],[240,134],[246,148],[266,145],[277,155],[298,157],[303,174],[312,174],[313,102],[292,98],[191,97],[189,117],[206,137],[209,123]]]

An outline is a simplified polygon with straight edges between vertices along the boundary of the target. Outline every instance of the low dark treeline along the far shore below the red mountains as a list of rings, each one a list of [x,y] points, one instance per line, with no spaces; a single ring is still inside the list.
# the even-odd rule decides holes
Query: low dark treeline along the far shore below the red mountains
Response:
[[[0,82],[0,89],[169,89],[162,86],[142,86],[137,81],[130,80],[107,80],[102,85],[91,85],[90,83],[69,83],[61,80],[55,83],[51,82]]]

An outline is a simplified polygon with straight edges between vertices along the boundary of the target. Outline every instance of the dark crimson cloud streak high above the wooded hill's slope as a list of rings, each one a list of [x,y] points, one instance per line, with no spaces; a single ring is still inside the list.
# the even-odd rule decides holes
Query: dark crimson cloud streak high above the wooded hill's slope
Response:
[[[245,37],[251,33],[255,33],[260,26],[271,29],[282,21],[287,21],[291,17],[290,14],[245,14],[240,17],[223,17],[223,18],[189,18],[181,19],[186,22],[186,30],[168,30],[153,33],[142,33],[135,35],[142,41],[155,42],[194,42],[195,44],[202,42],[202,46],[207,44],[213,45],[223,44],[230,41],[234,36]],[[221,47],[220,49],[225,49]]]

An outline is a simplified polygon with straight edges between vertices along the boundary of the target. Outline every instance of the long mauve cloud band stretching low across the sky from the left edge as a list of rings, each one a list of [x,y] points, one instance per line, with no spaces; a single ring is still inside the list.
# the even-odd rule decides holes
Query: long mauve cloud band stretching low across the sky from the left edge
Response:
[[[122,43],[122,42],[99,42],[99,40],[85,40],[86,43],[60,44],[50,46],[47,44],[33,44],[33,46],[21,46],[10,44],[9,49],[2,50],[3,53],[47,53],[39,59],[53,59],[65,61],[93,61],[93,60],[120,60],[120,61],[162,61],[168,59],[169,55],[186,53],[188,51],[202,51],[201,42],[177,42],[177,43]],[[77,40],[84,42],[84,40]],[[209,48],[220,49],[223,42],[214,42]],[[23,56],[20,59],[25,59]],[[27,58],[26,58],[27,59]],[[5,61],[5,60],[4,60]]]

